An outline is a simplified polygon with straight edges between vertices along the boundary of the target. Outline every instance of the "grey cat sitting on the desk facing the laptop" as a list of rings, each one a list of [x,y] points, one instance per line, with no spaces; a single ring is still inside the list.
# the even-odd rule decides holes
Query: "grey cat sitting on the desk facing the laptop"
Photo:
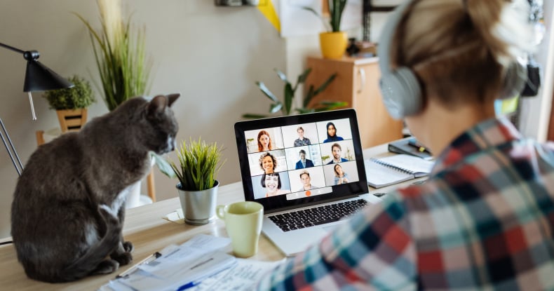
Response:
[[[132,261],[133,244],[121,233],[127,190],[147,175],[150,151],[175,149],[177,97],[131,98],[34,151],[11,208],[13,244],[29,278],[68,282]]]

